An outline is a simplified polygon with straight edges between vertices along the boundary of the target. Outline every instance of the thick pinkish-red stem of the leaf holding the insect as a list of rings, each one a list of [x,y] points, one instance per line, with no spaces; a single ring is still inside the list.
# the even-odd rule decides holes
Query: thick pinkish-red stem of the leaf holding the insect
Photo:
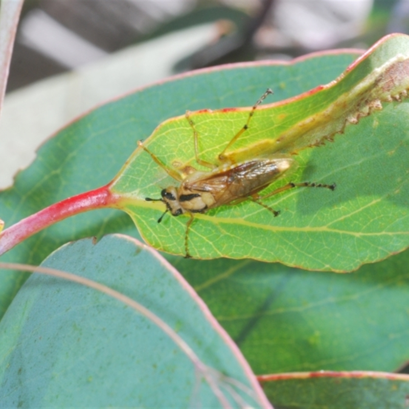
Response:
[[[0,233],[0,256],[33,234],[67,217],[88,210],[115,207],[113,204],[118,201],[119,197],[110,192],[109,186],[106,185],[102,188],[61,200],[11,225]]]

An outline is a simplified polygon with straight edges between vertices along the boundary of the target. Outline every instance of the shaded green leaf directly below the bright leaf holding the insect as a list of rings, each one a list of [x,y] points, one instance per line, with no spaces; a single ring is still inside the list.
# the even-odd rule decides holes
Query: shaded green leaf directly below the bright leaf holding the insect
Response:
[[[351,274],[252,260],[173,264],[256,374],[392,372],[407,361],[408,250]]]

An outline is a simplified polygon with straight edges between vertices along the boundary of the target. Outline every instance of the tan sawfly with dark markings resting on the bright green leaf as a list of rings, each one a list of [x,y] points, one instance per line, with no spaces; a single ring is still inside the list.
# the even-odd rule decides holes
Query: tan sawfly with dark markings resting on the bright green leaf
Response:
[[[199,135],[193,121],[190,119],[189,111],[186,112],[186,119],[193,130],[196,162],[203,167],[209,168],[210,170],[208,171],[196,170],[190,166],[185,168],[184,172],[170,168],[146,148],[142,141],[138,142],[138,145],[149,153],[153,161],[180,184],[178,187],[169,186],[163,189],[161,198],[153,199],[146,197],[145,200],[162,201],[165,203],[166,210],[157,220],[158,223],[162,221],[167,212],[170,212],[173,216],[180,216],[185,213],[190,216],[186,224],[185,257],[191,257],[189,254],[189,229],[194,220],[195,213],[206,213],[219,206],[236,205],[243,200],[252,200],[263,206],[276,217],[280,214],[280,211],[276,211],[265,205],[262,201],[263,199],[300,186],[328,188],[330,190],[335,189],[335,184],[325,185],[310,182],[290,182],[266,195],[260,195],[259,192],[267,188],[291,168],[294,163],[293,158],[289,156],[280,157],[277,153],[267,153],[257,155],[256,157],[248,157],[246,160],[236,162],[234,155],[226,153],[248,129],[257,106],[259,106],[269,94],[272,94],[272,90],[268,88],[253,105],[245,125],[218,155],[217,165],[200,159],[198,152]]]

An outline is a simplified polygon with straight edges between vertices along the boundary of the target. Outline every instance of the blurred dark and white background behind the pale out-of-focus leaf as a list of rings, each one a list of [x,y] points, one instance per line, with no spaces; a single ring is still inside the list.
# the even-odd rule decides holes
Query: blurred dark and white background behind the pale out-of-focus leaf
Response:
[[[212,36],[168,67],[169,75],[225,62],[367,48],[387,33],[407,32],[408,17],[407,0],[28,0],[8,91],[203,25],[214,26]],[[170,45],[177,51],[181,42]],[[160,54],[151,58],[153,67],[161,63]]]

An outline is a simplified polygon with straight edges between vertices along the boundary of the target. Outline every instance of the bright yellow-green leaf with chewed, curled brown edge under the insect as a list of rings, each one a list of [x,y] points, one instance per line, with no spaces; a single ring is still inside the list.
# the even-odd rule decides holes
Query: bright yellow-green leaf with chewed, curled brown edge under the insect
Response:
[[[186,166],[205,169],[196,164],[194,131],[185,116],[164,122],[144,143],[164,165],[137,149],[111,190],[123,197],[120,207],[145,240],[173,254],[187,254],[186,237],[189,255],[197,258],[249,257],[307,269],[350,271],[402,251],[409,245],[409,104],[390,101],[407,95],[407,50],[408,36],[386,37],[328,86],[257,108],[249,129],[225,154],[252,108],[190,113],[200,159],[220,166],[220,172],[232,163],[297,154],[297,171],[271,184],[262,196],[290,181],[307,180],[335,182],[335,192],[292,189],[263,200],[270,209],[281,210],[280,217],[246,200],[195,213],[189,230],[189,212],[155,223],[166,207],[145,198],[160,199],[163,188],[178,186],[165,167],[175,172],[174,164],[179,164],[181,170],[175,173],[180,178],[186,178]],[[285,79],[274,83],[287,85]],[[358,120],[359,125],[346,126]],[[332,144],[305,149],[332,141],[340,132],[344,135],[336,135]],[[222,152],[224,161],[218,156]],[[205,172],[199,180],[206,182],[210,171]],[[197,190],[192,190],[187,182],[184,194],[208,189],[200,188],[199,181],[196,184]],[[255,188],[243,179],[241,186],[247,185],[247,192]],[[233,201],[237,198],[242,196],[232,194]],[[200,203],[198,209],[202,207]]]

